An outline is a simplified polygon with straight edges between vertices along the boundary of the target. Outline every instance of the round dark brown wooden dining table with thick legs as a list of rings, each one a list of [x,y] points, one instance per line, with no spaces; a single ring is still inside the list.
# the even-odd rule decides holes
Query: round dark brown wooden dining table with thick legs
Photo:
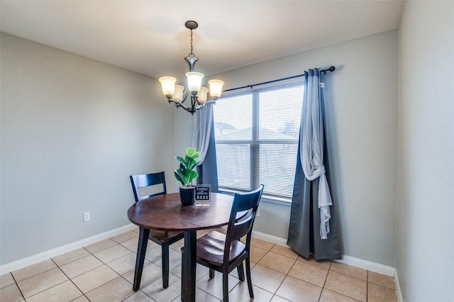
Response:
[[[228,224],[233,196],[211,193],[210,201],[183,206],[178,193],[162,194],[144,199],[128,209],[131,223],[140,228],[135,259],[133,291],[140,288],[145,252],[150,230],[184,233],[182,252],[182,301],[196,301],[196,231]]]

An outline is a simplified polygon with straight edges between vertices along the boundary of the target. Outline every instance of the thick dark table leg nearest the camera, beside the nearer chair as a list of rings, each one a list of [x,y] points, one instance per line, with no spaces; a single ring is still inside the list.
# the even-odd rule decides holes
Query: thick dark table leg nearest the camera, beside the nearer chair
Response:
[[[196,231],[184,232],[182,253],[182,301],[196,301]]]

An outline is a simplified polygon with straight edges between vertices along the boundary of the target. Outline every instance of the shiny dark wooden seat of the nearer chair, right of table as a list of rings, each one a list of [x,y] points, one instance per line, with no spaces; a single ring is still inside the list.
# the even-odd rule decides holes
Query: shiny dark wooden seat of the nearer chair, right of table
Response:
[[[221,266],[223,263],[226,235],[217,231],[211,231],[197,239],[197,258],[210,264]],[[243,255],[246,245],[234,240],[231,243],[229,262]]]

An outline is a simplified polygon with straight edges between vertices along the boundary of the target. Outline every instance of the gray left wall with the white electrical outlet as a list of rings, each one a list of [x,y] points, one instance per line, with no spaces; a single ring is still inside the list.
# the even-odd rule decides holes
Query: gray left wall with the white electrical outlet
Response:
[[[0,80],[1,264],[128,224],[130,174],[175,186],[155,79],[1,33]]]

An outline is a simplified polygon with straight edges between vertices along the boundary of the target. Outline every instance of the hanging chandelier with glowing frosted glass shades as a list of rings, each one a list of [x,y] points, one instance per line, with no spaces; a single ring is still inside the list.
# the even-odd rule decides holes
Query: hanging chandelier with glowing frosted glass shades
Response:
[[[206,104],[214,103],[222,93],[222,86],[224,82],[219,79],[211,79],[208,81],[209,89],[201,86],[201,79],[204,74],[194,72],[194,65],[199,60],[192,52],[192,30],[199,27],[196,21],[186,21],[184,26],[191,30],[191,52],[184,60],[189,65],[189,72],[186,73],[187,88],[182,85],[176,85],[177,79],[175,77],[160,77],[162,93],[167,98],[167,101],[173,103],[175,106],[181,107],[184,110],[194,114]],[[184,104],[188,96],[191,98],[191,104]]]

